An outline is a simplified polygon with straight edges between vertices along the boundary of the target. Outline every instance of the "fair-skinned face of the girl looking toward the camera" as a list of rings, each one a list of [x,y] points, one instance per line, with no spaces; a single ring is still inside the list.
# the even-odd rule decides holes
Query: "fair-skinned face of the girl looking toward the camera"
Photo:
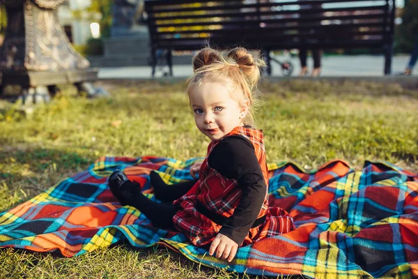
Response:
[[[189,89],[190,105],[197,128],[212,141],[221,140],[236,126],[242,126],[248,105],[240,107],[231,98],[229,87],[217,82],[204,82]]]

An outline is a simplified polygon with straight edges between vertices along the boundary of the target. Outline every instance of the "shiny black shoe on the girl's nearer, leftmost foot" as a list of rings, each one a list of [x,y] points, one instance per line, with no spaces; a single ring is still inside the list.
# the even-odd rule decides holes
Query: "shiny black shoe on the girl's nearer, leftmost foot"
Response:
[[[120,169],[116,169],[109,176],[109,188],[122,205],[129,204],[128,200],[132,197],[132,194],[141,191],[141,185],[136,181],[130,181]]]

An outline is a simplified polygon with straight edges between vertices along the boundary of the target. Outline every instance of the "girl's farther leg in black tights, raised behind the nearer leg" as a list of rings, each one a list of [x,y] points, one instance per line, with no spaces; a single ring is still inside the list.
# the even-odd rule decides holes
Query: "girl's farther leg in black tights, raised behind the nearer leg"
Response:
[[[151,185],[154,187],[154,194],[162,202],[173,202],[183,197],[196,183],[197,180],[167,185],[157,172],[150,172]]]

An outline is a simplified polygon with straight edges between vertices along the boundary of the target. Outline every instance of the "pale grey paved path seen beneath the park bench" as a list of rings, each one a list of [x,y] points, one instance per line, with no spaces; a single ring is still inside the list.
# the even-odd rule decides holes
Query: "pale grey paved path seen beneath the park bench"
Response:
[[[295,70],[293,77],[296,77],[300,71],[300,63],[297,57],[275,56],[279,61],[291,59]],[[401,72],[408,63],[408,55],[394,56],[392,60],[392,73]],[[308,66],[312,65],[311,57],[308,57]],[[382,55],[355,55],[355,56],[325,56],[322,60],[322,77],[381,77],[385,59]],[[272,62],[274,77],[281,77],[281,69],[277,63]],[[418,69],[415,70],[418,72]],[[176,65],[173,66],[174,77],[189,77],[192,75],[192,66]],[[417,74],[415,74],[417,75]],[[162,73],[157,71],[156,77],[161,77]],[[99,77],[102,79],[136,79],[150,78],[150,66],[122,67],[122,68],[100,68]]]

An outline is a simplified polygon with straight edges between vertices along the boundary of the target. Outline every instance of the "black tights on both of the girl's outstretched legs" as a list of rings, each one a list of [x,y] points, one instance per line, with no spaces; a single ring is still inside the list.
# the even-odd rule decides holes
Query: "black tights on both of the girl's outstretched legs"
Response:
[[[185,195],[196,181],[167,185],[156,172],[150,173],[150,180],[154,187],[155,197],[162,203],[148,199],[134,183],[127,183],[127,186],[121,190],[121,195],[126,199],[127,205],[139,209],[155,227],[175,229],[173,216],[178,211],[178,206],[174,206],[173,201]]]

